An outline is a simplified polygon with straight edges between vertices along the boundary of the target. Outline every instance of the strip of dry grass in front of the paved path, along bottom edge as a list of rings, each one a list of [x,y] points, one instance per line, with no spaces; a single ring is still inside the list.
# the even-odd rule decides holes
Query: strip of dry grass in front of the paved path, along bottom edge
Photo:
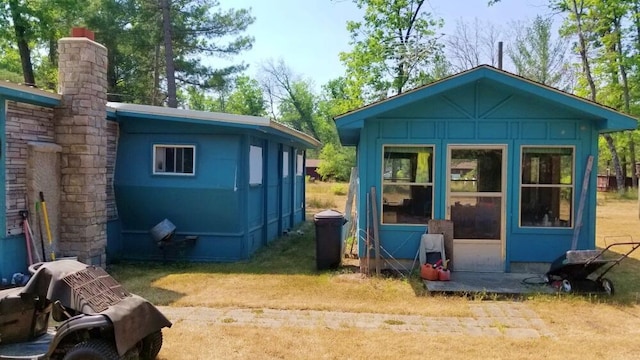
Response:
[[[558,314],[557,316],[561,316]],[[615,321],[615,319],[612,319]],[[176,324],[161,359],[637,359],[640,345],[628,334],[564,334],[517,340],[439,336],[359,329],[206,328]],[[584,336],[584,337],[582,337]],[[184,346],[187,343],[189,346]]]

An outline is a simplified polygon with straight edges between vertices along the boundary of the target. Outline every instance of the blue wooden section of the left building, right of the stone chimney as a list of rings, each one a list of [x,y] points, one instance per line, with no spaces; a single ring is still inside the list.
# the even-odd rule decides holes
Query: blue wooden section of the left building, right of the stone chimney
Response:
[[[247,259],[305,220],[305,149],[314,138],[262,117],[108,104],[119,124],[118,214],[110,258]],[[189,246],[160,249],[149,230],[168,219]]]

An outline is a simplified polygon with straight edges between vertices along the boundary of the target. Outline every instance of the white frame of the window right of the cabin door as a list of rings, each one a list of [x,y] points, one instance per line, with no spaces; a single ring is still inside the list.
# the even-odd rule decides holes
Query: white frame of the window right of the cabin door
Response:
[[[572,154],[572,159],[571,159],[571,184],[523,184],[522,183],[522,165],[523,165],[523,156],[524,156],[524,149],[531,149],[531,148],[543,148],[543,149],[571,149],[571,154]],[[576,198],[576,189],[575,189],[575,185],[576,185],[576,147],[575,145],[520,145],[520,173],[518,176],[518,183],[519,183],[519,194],[518,194],[518,227],[523,228],[523,229],[548,229],[548,228],[552,228],[552,229],[573,229],[575,226],[575,218],[574,218],[574,214],[575,214],[575,204],[574,204],[574,199]],[[522,225],[522,189],[523,188],[569,188],[571,189],[571,200],[569,201],[569,204],[571,204],[571,225],[570,226],[553,226],[553,219],[550,219],[551,223],[549,226],[529,226],[529,225]]]

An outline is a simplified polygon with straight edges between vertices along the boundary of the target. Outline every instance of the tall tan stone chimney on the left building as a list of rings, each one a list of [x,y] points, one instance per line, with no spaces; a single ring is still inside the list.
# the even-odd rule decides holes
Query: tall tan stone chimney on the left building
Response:
[[[60,256],[105,266],[107,49],[91,31],[58,41],[55,142],[60,155]]]

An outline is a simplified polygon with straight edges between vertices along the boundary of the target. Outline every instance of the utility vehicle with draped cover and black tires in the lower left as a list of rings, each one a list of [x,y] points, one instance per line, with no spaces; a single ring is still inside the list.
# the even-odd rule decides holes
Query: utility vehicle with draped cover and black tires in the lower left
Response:
[[[0,359],[155,359],[171,322],[100,267],[37,263],[0,290]],[[50,319],[51,318],[51,319]]]

